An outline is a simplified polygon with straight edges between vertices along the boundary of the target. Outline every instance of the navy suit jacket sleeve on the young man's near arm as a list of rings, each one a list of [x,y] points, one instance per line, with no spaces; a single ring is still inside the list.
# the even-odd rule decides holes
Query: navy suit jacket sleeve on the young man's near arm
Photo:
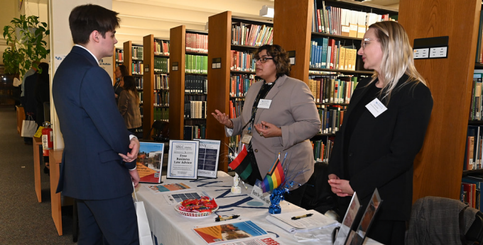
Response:
[[[117,110],[111,79],[101,67],[87,71],[80,88],[80,103],[97,127],[104,140],[114,152],[127,154],[129,149],[129,131]],[[134,169],[136,161],[126,163],[127,169]]]

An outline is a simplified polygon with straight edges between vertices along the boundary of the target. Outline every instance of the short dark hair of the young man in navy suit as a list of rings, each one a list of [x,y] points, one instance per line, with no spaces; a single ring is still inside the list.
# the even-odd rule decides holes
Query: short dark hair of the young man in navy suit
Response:
[[[86,4],[72,9],[69,16],[70,33],[75,44],[87,44],[94,30],[106,38],[108,31],[119,27],[118,13],[99,5]]]

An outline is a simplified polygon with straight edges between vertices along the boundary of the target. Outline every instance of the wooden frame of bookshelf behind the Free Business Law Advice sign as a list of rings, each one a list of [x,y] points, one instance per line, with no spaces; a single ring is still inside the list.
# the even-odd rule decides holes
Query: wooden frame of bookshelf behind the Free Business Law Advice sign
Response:
[[[205,53],[186,52],[186,33],[207,34],[204,31],[187,30],[185,25],[170,29],[170,139],[183,139],[185,126],[185,76],[191,74],[185,72],[185,55],[206,56]],[[192,75],[202,76],[202,74],[195,73]],[[186,121],[191,120],[193,119]]]

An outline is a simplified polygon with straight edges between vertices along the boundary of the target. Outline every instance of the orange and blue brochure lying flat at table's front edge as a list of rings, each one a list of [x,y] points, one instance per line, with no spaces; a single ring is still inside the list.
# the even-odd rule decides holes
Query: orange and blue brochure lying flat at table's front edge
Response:
[[[261,229],[251,221],[215,224],[208,227],[196,227],[193,230],[207,244],[214,244],[221,241],[235,241],[267,234],[264,229]]]

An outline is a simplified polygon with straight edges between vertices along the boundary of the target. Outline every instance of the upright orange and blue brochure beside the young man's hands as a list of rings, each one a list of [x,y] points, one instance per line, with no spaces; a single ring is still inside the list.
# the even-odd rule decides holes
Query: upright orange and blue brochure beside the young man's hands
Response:
[[[139,154],[136,159],[140,182],[161,183],[163,167],[163,143],[139,142]]]

